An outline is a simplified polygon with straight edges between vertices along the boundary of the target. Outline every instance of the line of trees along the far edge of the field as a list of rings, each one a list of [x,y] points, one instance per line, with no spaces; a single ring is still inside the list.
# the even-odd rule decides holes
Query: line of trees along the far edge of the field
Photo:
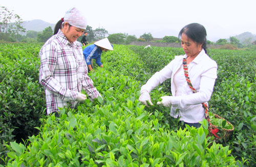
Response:
[[[36,31],[26,31],[22,26],[23,19],[20,18],[13,11],[10,11],[6,7],[0,7],[0,41],[8,42],[46,42],[52,35],[52,27],[46,27],[42,32]],[[113,44],[130,44],[133,41],[144,41],[144,42],[164,42],[164,43],[179,43],[180,39],[175,36],[165,36],[161,40],[154,40],[151,33],[144,33],[139,38],[135,35],[129,35],[127,33],[116,33],[109,34],[107,30],[103,27],[98,27],[93,30],[90,25],[87,26],[86,32],[88,32],[87,40],[89,42],[94,42],[105,37],[108,37]],[[82,37],[78,38],[81,41]],[[248,46],[253,46],[256,48],[256,41],[250,42],[250,39],[246,43],[242,44],[235,37],[230,37],[229,39],[219,39],[216,42],[207,41],[207,44],[211,45],[223,45],[225,48],[243,48]]]

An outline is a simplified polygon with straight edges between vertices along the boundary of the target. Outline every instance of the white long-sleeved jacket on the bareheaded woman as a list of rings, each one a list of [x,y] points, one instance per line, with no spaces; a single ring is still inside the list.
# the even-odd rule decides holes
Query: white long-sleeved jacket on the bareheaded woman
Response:
[[[182,88],[179,88],[179,90],[182,90],[182,95],[176,96],[173,78],[177,70],[182,66],[183,58],[186,57],[186,54],[176,56],[167,66],[148,79],[146,84],[141,87],[141,92],[143,90],[151,92],[159,84],[162,84],[163,81],[171,78],[173,97],[170,116],[174,118],[180,117],[181,121],[187,123],[197,123],[205,118],[202,103],[209,101],[214,90],[217,78],[217,63],[202,50],[188,66],[188,76],[197,93],[193,93],[188,85],[185,84]]]

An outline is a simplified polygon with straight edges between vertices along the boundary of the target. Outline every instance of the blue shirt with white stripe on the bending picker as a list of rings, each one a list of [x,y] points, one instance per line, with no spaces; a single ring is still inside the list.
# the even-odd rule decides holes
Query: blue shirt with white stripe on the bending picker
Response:
[[[91,65],[91,60],[95,59],[96,64],[101,66],[102,63],[100,62],[102,50],[95,44],[89,45],[83,49],[83,57],[86,60],[87,65]]]

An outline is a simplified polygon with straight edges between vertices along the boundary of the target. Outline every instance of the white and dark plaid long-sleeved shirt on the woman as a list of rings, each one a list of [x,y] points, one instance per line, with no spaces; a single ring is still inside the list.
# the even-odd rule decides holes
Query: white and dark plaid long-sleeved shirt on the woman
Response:
[[[42,46],[39,55],[39,82],[45,88],[47,114],[57,112],[58,107],[74,108],[82,89],[90,99],[98,97],[79,42],[70,43],[59,30]]]

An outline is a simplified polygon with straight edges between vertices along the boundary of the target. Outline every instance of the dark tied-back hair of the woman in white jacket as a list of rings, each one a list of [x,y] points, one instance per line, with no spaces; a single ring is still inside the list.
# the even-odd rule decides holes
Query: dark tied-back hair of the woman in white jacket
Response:
[[[207,53],[207,40],[206,40],[206,30],[204,28],[203,25],[199,24],[199,23],[191,23],[188,24],[186,26],[183,27],[183,29],[181,29],[180,33],[179,33],[179,38],[181,38],[182,34],[186,34],[188,38],[190,38],[191,40],[193,40],[194,42],[203,44],[202,47],[205,51],[205,53]]]

